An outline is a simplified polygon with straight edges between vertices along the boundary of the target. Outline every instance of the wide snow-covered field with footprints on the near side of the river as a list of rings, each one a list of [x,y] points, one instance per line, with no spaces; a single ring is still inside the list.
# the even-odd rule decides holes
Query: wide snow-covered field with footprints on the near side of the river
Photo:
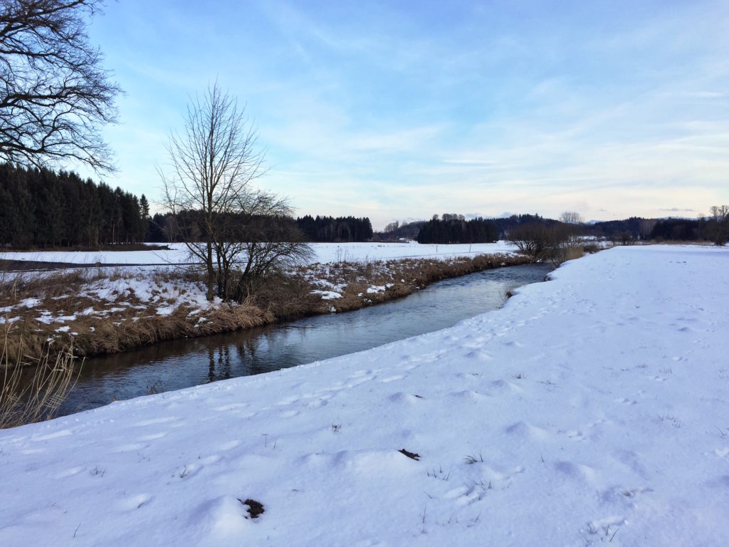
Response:
[[[5,430],[0,545],[724,546],[728,305],[729,249],[618,247],[447,330]]]

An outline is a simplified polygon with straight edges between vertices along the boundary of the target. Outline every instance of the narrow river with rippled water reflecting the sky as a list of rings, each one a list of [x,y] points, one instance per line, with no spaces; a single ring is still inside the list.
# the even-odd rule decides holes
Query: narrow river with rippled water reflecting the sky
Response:
[[[510,266],[446,279],[413,295],[344,314],[166,341],[86,360],[59,415],[211,381],[249,376],[359,352],[451,327],[499,309],[506,294],[541,282],[550,266]]]

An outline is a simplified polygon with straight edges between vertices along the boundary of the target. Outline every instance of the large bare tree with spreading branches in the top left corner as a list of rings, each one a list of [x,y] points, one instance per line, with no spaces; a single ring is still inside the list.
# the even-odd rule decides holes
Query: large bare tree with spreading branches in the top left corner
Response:
[[[121,90],[86,34],[100,9],[101,0],[0,0],[0,158],[113,170],[99,126],[117,120]]]

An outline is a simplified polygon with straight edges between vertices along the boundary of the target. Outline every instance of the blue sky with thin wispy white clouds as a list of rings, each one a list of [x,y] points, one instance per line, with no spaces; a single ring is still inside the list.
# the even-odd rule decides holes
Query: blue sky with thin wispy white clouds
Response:
[[[728,1],[109,2],[106,182],[159,199],[217,79],[297,214],[706,214],[729,203],[728,28]]]

